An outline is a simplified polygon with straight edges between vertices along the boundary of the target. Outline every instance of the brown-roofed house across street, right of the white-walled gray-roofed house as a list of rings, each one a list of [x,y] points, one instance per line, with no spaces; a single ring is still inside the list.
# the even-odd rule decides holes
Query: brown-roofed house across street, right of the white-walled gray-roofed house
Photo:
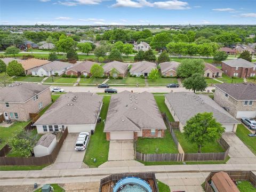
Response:
[[[94,64],[100,65],[100,63],[93,62],[93,61],[84,61],[76,63],[73,67],[69,68],[66,71],[67,75],[84,75],[84,76],[91,76],[91,68]]]

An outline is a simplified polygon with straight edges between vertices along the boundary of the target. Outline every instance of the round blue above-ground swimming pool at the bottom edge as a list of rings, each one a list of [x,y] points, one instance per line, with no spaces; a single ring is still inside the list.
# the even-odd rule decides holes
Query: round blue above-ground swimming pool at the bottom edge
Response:
[[[126,177],[119,180],[115,187],[113,188],[113,192],[152,192],[149,184],[138,177]]]

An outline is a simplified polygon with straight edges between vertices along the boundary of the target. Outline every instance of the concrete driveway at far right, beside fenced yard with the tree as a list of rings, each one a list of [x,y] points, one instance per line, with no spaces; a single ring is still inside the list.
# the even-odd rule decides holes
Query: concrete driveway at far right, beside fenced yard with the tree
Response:
[[[228,164],[255,164],[256,156],[244,145],[235,133],[226,132],[222,134],[223,139],[230,146]]]

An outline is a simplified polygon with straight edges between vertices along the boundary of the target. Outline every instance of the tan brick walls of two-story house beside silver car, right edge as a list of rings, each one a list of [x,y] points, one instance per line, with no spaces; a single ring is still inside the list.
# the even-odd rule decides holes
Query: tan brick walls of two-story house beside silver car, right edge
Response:
[[[214,101],[217,102],[221,107],[226,107],[228,112],[236,117],[237,111],[255,111],[256,102],[253,101],[252,106],[245,106],[244,101],[237,101],[233,97],[226,97],[226,93],[220,90],[218,87],[215,88]]]

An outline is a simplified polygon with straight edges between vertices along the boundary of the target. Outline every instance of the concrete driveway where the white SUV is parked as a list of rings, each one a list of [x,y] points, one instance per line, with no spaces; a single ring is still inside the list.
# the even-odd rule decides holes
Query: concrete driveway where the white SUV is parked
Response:
[[[79,133],[68,133],[54,164],[47,168],[50,168],[51,170],[81,168],[85,150],[76,151],[74,149],[78,134]]]

